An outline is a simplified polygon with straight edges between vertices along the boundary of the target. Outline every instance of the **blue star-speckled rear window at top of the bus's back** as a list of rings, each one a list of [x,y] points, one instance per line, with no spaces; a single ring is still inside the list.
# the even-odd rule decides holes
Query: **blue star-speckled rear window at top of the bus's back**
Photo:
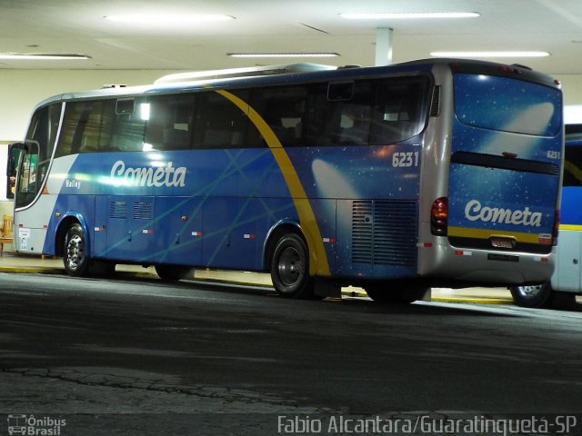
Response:
[[[455,113],[485,129],[555,136],[561,130],[558,89],[509,77],[455,74]]]

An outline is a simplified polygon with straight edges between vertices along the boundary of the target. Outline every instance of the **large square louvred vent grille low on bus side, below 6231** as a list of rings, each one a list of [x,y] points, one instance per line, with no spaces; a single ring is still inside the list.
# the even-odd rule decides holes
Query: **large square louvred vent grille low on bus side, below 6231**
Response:
[[[416,216],[416,202],[354,202],[352,263],[414,266]]]

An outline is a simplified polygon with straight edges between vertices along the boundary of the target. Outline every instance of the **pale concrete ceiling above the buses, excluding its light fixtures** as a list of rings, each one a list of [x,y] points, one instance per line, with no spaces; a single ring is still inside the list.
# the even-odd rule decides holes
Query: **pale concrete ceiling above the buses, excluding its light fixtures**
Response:
[[[105,16],[225,14],[198,25],[128,25]],[[346,12],[477,12],[466,19],[353,21]],[[494,59],[547,74],[582,74],[580,0],[0,0],[0,53],[86,54],[88,60],[1,60],[1,69],[205,70],[317,62],[375,63],[377,28],[393,29],[393,60],[433,51],[546,51]],[[335,52],[326,59],[235,59],[241,52]]]

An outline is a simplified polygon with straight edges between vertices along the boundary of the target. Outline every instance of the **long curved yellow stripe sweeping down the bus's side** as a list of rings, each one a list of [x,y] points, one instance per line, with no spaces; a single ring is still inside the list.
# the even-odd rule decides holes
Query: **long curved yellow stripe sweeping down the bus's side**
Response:
[[[324,246],[319,226],[317,225],[316,215],[307,199],[305,189],[299,180],[295,167],[293,166],[293,163],[291,163],[289,156],[286,154],[283,145],[276,137],[275,132],[273,132],[273,129],[269,127],[269,124],[266,124],[266,121],[256,112],[255,109],[253,109],[249,104],[246,104],[235,94],[231,94],[224,90],[215,91],[236,104],[236,106],[248,116],[251,122],[255,124],[258,131],[263,135],[263,138],[265,138],[266,144],[275,157],[276,163],[279,165],[281,173],[283,173],[289,192],[293,197],[293,203],[295,204],[297,214],[299,215],[299,223],[301,223],[301,226],[307,231],[306,240],[311,260],[311,262],[309,262],[310,275],[331,275],[329,272],[329,263],[327,262],[326,247]]]

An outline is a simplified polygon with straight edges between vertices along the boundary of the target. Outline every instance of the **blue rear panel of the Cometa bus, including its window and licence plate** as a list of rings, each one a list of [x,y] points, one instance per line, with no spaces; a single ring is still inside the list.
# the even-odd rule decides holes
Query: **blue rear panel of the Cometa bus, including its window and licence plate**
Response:
[[[498,71],[461,71],[453,80],[449,242],[551,253],[563,153],[560,90]],[[489,260],[518,262],[502,253]]]

